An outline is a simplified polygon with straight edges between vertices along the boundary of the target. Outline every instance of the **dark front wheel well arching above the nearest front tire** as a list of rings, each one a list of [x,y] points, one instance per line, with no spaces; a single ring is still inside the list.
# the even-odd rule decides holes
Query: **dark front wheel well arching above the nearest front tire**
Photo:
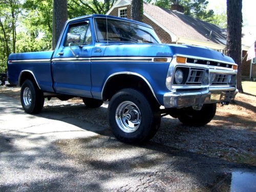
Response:
[[[143,93],[150,102],[159,105],[157,99],[152,93],[150,87],[139,76],[136,75],[128,75],[128,74],[120,74],[111,77],[105,84],[102,93],[103,100],[110,100],[112,96],[118,91],[126,88],[133,88],[137,91]]]

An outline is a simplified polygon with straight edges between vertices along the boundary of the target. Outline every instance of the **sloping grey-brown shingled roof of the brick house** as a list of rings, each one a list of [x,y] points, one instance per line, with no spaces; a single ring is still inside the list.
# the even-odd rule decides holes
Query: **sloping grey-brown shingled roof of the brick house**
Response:
[[[178,37],[225,45],[223,29],[214,24],[148,3],[144,3],[143,10]]]

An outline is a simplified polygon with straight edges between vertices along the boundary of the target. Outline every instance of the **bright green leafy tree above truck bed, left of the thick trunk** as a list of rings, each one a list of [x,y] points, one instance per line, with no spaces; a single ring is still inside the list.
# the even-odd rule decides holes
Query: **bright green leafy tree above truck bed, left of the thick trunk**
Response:
[[[18,51],[45,51],[52,47],[52,0],[26,0],[20,23]],[[27,39],[24,41],[23,39]]]

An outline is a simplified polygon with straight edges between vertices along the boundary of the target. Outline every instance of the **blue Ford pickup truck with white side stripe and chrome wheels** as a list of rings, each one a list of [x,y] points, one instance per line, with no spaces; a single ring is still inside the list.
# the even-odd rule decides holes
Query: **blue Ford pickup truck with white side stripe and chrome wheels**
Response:
[[[237,94],[230,57],[161,44],[151,26],[98,14],[68,20],[55,51],[11,54],[8,72],[29,114],[39,113],[45,98],[81,97],[88,108],[109,101],[113,133],[128,143],[151,139],[165,115],[203,126],[216,103]]]

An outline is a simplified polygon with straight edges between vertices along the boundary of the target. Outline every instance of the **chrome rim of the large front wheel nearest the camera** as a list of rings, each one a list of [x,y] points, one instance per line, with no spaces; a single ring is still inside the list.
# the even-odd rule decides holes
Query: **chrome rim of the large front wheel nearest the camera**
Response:
[[[141,123],[141,113],[138,106],[131,101],[120,103],[116,109],[116,122],[123,132],[135,132]]]

